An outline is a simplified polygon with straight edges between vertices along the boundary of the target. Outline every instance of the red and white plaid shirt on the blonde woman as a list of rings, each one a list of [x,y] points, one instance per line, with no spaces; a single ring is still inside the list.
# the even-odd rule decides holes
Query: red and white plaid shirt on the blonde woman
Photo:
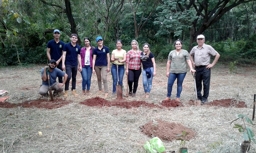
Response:
[[[129,69],[138,70],[141,68],[141,55],[142,51],[135,53],[133,50],[127,52],[126,63],[129,63]]]

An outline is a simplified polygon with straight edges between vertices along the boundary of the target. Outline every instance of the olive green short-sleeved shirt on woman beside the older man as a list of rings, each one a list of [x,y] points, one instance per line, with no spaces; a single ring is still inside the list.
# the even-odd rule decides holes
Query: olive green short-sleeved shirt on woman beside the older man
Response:
[[[189,52],[181,50],[177,55],[176,50],[169,53],[168,61],[171,61],[170,73],[186,73],[187,72],[187,60],[190,60]]]

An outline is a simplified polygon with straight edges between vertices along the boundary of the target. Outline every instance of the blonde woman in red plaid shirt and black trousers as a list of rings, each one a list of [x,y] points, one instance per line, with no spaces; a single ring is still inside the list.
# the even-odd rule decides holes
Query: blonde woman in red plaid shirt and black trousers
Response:
[[[132,50],[128,51],[126,56],[126,74],[128,74],[129,96],[135,97],[141,75],[140,55],[142,51],[140,51],[136,40],[132,40],[131,45]],[[132,83],[134,84],[133,89]]]

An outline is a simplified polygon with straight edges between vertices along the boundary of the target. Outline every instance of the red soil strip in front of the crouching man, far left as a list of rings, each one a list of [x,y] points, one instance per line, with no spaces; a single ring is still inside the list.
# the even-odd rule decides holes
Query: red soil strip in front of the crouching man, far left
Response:
[[[54,99],[54,101],[49,101],[49,100],[32,100],[32,101],[25,101],[23,103],[18,103],[18,104],[13,104],[13,103],[8,103],[0,102],[0,107],[2,108],[13,108],[13,107],[24,107],[24,108],[30,108],[30,107],[37,107],[37,108],[46,108],[46,109],[56,109],[60,108],[66,104],[69,104],[71,101],[65,101],[62,99]]]

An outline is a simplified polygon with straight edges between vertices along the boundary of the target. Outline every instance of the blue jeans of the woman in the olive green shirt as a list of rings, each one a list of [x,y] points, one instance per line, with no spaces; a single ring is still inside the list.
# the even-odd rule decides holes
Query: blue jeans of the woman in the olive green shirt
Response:
[[[167,97],[171,97],[171,91],[173,90],[174,81],[177,78],[177,95],[176,97],[180,97],[180,93],[182,91],[182,83],[187,73],[170,73],[168,78],[168,86],[167,86]]]

